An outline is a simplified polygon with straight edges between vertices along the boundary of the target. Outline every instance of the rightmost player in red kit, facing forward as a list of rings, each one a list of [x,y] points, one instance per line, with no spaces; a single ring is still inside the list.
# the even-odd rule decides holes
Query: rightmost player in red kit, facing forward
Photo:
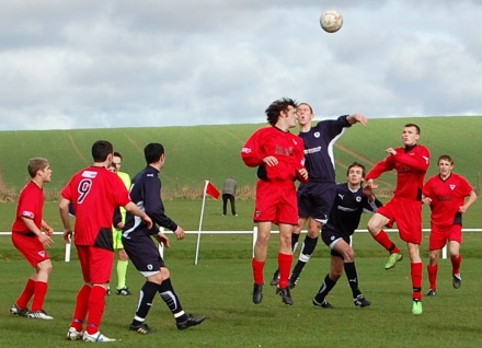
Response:
[[[460,244],[462,243],[462,213],[475,201],[477,195],[469,182],[452,172],[454,161],[448,154],[438,158],[438,174],[432,176],[424,185],[422,200],[431,206],[432,231],[428,244],[431,259],[427,265],[431,289],[427,295],[437,293],[438,256],[440,250],[449,245],[452,265],[452,286],[459,289],[462,285],[460,276]],[[466,201],[466,198],[469,197]]]

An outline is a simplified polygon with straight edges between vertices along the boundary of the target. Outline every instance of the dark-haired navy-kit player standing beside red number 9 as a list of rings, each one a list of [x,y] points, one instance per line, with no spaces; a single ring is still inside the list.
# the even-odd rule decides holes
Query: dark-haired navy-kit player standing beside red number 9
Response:
[[[144,149],[144,154],[147,166],[134,177],[130,198],[146,211],[154,224],[146,227],[140,223],[138,218],[127,213],[126,224],[123,229],[123,244],[134,266],[146,277],[129,329],[146,335],[152,333],[146,323],[146,316],[158,292],[171,310],[179,329],[198,325],[206,317],[193,316],[184,312],[171,283],[171,272],[165,267],[151,237],[156,237],[165,247],[170,247],[169,239],[159,231],[158,225],[173,231],[177,240],[184,239],[184,230],[165,214],[161,199],[159,173],[164,166],[164,147],[160,143],[149,143]]]

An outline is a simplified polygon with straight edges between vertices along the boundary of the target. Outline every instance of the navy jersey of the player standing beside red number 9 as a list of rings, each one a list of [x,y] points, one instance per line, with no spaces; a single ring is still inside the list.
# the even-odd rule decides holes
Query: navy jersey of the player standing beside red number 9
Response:
[[[164,205],[161,199],[161,181],[157,169],[148,165],[144,171],[137,174],[133,179],[129,196],[131,201],[152,219],[153,224],[152,229],[148,230],[140,218],[127,213],[126,224],[123,229],[123,235],[125,237],[138,230],[145,234],[156,235],[159,233],[157,225],[171,231],[177,229],[177,224],[164,213]]]

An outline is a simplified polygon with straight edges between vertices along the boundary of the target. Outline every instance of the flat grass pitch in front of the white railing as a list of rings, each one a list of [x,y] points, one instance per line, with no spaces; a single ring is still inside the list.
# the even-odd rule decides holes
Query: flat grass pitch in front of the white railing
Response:
[[[395,235],[394,240],[399,241]],[[72,347],[83,343],[65,339],[74,298],[81,287],[80,269],[73,253],[64,263],[60,236],[50,250],[54,272],[45,309],[53,322],[16,317],[9,308],[22,291],[31,269],[20,257],[2,259],[0,267],[0,347]],[[0,237],[2,251],[11,248],[9,237]],[[185,332],[174,321],[159,297],[148,323],[156,334],[141,336],[127,330],[137,305],[142,277],[128,268],[128,286],[133,297],[111,295],[102,330],[122,339],[113,347],[480,347],[482,340],[480,289],[482,259],[466,256],[462,264],[463,285],[451,288],[450,263],[440,262],[438,294],[424,299],[424,313],[411,314],[411,286],[408,259],[386,271],[386,254],[367,233],[355,235],[360,289],[372,302],[369,308],[355,308],[346,278],[341,278],[328,300],[333,310],[314,308],[311,299],[329,269],[329,251],[319,244],[312,260],[292,290],[295,304],[287,306],[266,286],[260,305],[251,302],[251,236],[204,235],[199,263],[194,266],[195,235],[174,242],[165,252],[173,285],[184,308],[194,314],[207,315],[202,325]],[[276,236],[273,236],[266,280],[276,267]],[[466,255],[480,254],[482,234],[466,235]],[[404,252],[404,251],[403,251]],[[406,253],[405,253],[406,255]],[[426,259],[426,258],[425,258]],[[424,272],[424,291],[427,289]],[[115,272],[113,283],[116,283]]]

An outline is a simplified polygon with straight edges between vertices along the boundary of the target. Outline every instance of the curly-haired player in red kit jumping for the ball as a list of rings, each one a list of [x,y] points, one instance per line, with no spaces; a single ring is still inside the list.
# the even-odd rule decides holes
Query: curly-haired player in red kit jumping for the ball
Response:
[[[298,224],[298,202],[295,179],[308,182],[305,169],[303,141],[289,132],[296,126],[297,104],[290,98],[273,102],[265,111],[271,127],[255,131],[241,151],[248,166],[257,166],[256,202],[253,221],[257,223],[252,268],[253,302],[263,299],[264,266],[272,223],[279,227],[276,293],[286,304],[292,304],[288,277],[292,264],[291,232]]]

